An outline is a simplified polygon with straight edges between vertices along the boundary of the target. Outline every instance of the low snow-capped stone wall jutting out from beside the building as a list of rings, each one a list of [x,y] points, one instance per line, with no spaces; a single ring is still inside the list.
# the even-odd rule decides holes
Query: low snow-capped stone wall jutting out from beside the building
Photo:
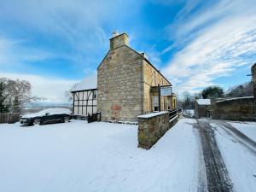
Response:
[[[169,120],[168,112],[149,113],[138,116],[138,148],[151,148],[160,137],[165,135],[166,131],[177,123],[180,116],[182,116],[182,113],[171,120]]]

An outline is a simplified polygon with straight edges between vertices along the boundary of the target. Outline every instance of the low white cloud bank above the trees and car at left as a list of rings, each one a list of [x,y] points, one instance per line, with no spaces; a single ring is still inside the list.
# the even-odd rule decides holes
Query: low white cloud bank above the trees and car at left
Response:
[[[32,84],[32,95],[44,97],[44,102],[67,102],[65,91],[79,80],[56,79],[26,73],[0,73],[0,77],[27,80]]]

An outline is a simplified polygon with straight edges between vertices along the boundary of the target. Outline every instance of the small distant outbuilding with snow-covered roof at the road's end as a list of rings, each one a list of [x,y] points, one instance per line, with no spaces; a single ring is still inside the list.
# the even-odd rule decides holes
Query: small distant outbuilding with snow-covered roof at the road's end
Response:
[[[209,118],[211,100],[210,99],[197,99],[195,100],[195,118]]]

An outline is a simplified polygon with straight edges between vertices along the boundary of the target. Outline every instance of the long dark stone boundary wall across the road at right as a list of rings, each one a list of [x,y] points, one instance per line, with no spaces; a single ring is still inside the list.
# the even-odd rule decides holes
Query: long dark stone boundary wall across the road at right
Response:
[[[212,102],[212,119],[254,121],[253,96],[237,97]]]

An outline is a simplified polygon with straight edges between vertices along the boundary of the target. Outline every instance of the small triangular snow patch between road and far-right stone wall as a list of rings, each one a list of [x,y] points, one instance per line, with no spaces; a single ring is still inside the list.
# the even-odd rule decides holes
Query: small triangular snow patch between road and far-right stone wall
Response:
[[[236,127],[238,131],[241,131],[247,137],[256,141],[256,123],[255,122],[229,122],[230,125]]]

